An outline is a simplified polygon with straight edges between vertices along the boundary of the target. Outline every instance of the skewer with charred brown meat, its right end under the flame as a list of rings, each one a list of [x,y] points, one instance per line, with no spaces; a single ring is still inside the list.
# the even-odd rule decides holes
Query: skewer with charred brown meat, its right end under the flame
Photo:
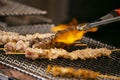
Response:
[[[39,38],[36,38],[36,39],[39,39]],[[44,41],[44,39],[46,41]],[[41,41],[39,41],[39,40],[38,41],[37,40],[35,40],[35,41],[34,40],[31,40],[31,41],[19,40],[17,42],[10,41],[10,42],[8,42],[8,43],[6,43],[4,45],[4,48],[5,48],[4,50],[7,51],[7,52],[8,51],[10,51],[10,52],[25,52],[25,50],[27,48],[33,48],[33,49],[34,48],[50,49],[50,48],[55,48],[55,47],[64,48],[65,46],[67,46],[65,44],[62,45],[62,44],[53,44],[53,43],[51,43],[51,42],[49,43],[49,40],[47,41],[47,38],[43,38],[43,39],[41,39]],[[87,45],[86,44],[79,44],[78,46],[85,46],[86,47]]]

